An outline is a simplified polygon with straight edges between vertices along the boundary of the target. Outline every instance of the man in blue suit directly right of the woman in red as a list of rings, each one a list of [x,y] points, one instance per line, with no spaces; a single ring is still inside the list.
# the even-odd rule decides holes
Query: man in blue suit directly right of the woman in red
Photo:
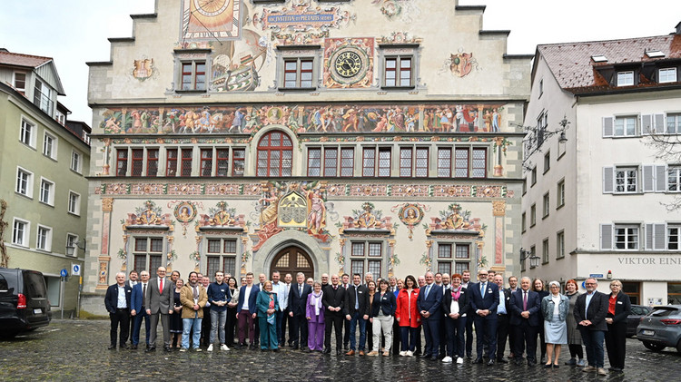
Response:
[[[442,287],[435,284],[433,272],[426,273],[426,286],[419,292],[416,306],[421,315],[421,325],[426,336],[422,358],[438,360],[439,324],[442,319]]]

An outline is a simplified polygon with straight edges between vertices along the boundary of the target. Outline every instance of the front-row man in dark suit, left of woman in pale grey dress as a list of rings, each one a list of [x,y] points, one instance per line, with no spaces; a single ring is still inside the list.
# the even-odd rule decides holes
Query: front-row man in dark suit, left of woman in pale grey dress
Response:
[[[511,294],[510,299],[510,327],[515,331],[515,346],[513,357],[516,365],[522,364],[522,354],[527,344],[528,367],[537,365],[537,334],[541,314],[539,294],[529,289],[532,280],[528,277],[520,279],[520,289]]]

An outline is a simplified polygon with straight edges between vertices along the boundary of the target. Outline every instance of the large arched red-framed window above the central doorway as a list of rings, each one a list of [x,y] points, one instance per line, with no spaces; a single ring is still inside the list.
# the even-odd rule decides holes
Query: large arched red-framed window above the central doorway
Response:
[[[258,142],[257,176],[291,176],[293,144],[283,132],[268,132]]]

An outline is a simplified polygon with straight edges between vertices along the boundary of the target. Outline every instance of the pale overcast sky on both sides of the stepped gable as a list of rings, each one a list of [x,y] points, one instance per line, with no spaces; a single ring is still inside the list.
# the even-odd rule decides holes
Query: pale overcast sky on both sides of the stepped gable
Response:
[[[131,36],[129,15],[153,13],[153,5],[154,0],[3,0],[0,47],[53,57],[66,93],[59,101],[73,112],[69,119],[91,124],[85,62],[108,61],[107,38]],[[511,31],[508,54],[534,54],[537,44],[669,34],[681,22],[681,0],[460,0],[459,5],[487,5],[483,26]]]

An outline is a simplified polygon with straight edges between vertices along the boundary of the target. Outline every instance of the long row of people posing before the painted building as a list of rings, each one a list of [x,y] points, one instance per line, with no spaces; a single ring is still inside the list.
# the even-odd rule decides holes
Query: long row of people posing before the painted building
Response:
[[[597,291],[597,279],[586,279],[584,294],[574,279],[566,282],[565,293],[558,281],[546,290],[541,279],[523,277],[518,283],[515,276],[504,288],[502,275],[486,269],[479,269],[478,282],[470,280],[469,271],[377,280],[371,273],[363,279],[323,274],[321,281],[300,272],[295,280],[291,274],[281,279],[274,271],[271,280],[261,274],[258,282],[250,272],[237,282],[217,271],[211,282],[192,271],[186,283],[176,270],[166,279],[163,267],[153,278],[143,270],[138,280],[133,272],[128,280],[118,273],[106,291],[110,349],[117,337],[121,348],[128,348],[128,338],[130,348],[138,348],[144,321],[146,351],[153,351],[160,319],[166,351],[212,351],[213,345],[279,351],[288,342],[292,349],[330,354],[333,333],[339,356],[394,353],[458,364],[469,358],[488,366],[508,358],[522,365],[525,356],[528,367],[535,367],[539,342],[544,367],[559,367],[561,348],[568,345],[566,365],[606,375],[605,341],[610,370],[625,367],[631,303],[618,280],[610,283],[608,296]],[[507,342],[510,353],[504,358]]]

